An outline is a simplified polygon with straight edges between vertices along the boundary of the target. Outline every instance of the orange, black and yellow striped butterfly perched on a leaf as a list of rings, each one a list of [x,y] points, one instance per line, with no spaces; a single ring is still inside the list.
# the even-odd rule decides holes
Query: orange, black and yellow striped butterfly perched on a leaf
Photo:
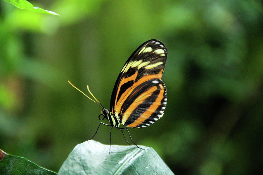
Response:
[[[122,129],[147,127],[162,118],[167,104],[166,87],[162,81],[166,59],[167,49],[157,39],[146,41],[139,46],[120,71],[110,98],[110,110],[101,105],[88,85],[87,89],[96,101],[68,81],[74,88],[101,106],[102,111],[98,118],[99,120],[106,118],[110,124],[100,122],[98,128],[101,124],[110,126],[110,145],[113,127],[120,130],[127,141]],[[134,143],[128,129],[127,131]],[[129,144],[128,141],[127,143]]]

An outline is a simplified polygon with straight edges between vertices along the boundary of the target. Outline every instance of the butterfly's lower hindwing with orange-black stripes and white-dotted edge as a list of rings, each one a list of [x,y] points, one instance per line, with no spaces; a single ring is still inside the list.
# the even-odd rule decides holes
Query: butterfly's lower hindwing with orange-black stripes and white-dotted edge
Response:
[[[127,127],[149,126],[163,116],[166,87],[161,79],[151,79],[138,85],[121,108],[120,120]]]

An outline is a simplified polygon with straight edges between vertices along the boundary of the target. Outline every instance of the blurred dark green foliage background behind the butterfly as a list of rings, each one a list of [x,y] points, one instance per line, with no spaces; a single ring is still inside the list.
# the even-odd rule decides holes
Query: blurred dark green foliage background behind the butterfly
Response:
[[[95,133],[131,53],[168,50],[163,118],[129,129],[175,174],[257,174],[263,156],[262,1],[0,1],[0,148],[58,171]],[[106,121],[105,121],[106,122]],[[109,128],[94,140],[109,144]],[[127,145],[112,130],[112,143]]]

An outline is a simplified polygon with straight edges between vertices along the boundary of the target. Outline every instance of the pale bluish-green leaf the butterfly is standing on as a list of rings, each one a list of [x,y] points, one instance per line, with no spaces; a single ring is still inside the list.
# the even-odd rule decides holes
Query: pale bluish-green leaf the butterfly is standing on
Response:
[[[62,174],[173,174],[153,148],[103,145],[89,140],[78,144],[62,164]],[[110,149],[110,154],[109,154]]]

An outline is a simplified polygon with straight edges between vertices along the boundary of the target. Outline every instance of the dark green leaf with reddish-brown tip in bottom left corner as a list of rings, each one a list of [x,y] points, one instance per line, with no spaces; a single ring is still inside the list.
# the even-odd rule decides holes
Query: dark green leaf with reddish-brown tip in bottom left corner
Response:
[[[39,167],[37,164],[23,158],[6,154],[0,149],[1,175],[56,175],[56,173]]]

